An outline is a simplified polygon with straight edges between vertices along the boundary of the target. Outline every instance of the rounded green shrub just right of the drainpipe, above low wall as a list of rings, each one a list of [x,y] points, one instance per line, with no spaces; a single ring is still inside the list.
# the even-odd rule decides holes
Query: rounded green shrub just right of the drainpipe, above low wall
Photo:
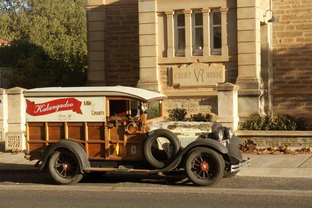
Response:
[[[278,115],[273,122],[272,130],[294,131],[297,129],[295,116],[289,114]]]

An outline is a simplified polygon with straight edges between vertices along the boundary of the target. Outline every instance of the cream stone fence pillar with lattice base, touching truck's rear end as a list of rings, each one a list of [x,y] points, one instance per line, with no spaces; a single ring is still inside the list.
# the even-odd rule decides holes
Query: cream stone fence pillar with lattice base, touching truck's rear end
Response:
[[[26,106],[23,92],[26,89],[7,89],[8,132],[5,135],[5,150],[26,149]]]

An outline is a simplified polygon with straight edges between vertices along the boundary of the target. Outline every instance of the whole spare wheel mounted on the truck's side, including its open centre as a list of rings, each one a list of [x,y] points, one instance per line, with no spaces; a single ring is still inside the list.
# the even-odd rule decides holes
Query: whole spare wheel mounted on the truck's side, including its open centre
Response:
[[[168,141],[169,144],[162,143],[163,141]],[[161,169],[170,164],[174,159],[173,156],[180,150],[180,140],[167,129],[154,130],[154,133],[145,139],[143,144],[145,160],[156,169]]]

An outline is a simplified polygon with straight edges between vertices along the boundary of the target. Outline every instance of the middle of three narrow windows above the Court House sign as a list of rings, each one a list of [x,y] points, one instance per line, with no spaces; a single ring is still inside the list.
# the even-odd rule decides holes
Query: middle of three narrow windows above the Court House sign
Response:
[[[192,13],[193,55],[202,55],[204,47],[203,16],[200,11]]]

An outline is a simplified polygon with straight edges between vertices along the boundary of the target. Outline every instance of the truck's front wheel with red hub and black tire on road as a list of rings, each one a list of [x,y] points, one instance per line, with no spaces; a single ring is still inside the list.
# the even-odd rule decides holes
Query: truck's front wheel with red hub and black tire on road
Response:
[[[198,147],[186,156],[184,169],[193,184],[213,186],[222,179],[224,166],[224,160],[219,153],[209,148]]]

